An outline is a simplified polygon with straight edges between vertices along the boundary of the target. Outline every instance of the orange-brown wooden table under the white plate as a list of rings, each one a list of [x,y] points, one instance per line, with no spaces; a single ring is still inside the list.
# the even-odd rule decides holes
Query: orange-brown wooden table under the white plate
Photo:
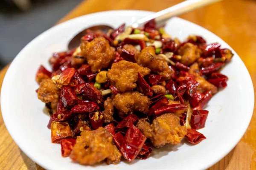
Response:
[[[87,0],[82,2],[61,21],[84,14],[118,9],[160,11],[182,0]],[[180,16],[212,31],[226,41],[247,66],[256,83],[256,1],[224,0]],[[0,72],[0,85],[7,71]],[[239,69],[239,68],[238,68]],[[0,113],[1,114],[1,113]],[[242,116],[243,113],[241,113]],[[256,111],[243,138],[236,147],[209,170],[256,169]],[[0,169],[41,170],[13,142],[0,116]]]

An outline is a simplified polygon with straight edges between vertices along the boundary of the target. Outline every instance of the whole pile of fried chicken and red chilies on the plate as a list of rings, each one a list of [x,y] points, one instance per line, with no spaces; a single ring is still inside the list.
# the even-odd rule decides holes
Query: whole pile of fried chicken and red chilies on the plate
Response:
[[[232,52],[190,35],[180,42],[154,20],[143,28],[87,30],[78,48],[40,66],[38,99],[46,103],[53,143],[80,164],[147,159],[153,148],[198,144],[204,110],[227,76]]]

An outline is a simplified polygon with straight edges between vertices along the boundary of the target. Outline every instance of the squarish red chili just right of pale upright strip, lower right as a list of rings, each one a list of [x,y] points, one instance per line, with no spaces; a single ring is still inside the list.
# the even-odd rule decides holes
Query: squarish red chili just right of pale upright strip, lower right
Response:
[[[194,110],[191,115],[190,125],[193,129],[201,129],[204,127],[209,111]]]

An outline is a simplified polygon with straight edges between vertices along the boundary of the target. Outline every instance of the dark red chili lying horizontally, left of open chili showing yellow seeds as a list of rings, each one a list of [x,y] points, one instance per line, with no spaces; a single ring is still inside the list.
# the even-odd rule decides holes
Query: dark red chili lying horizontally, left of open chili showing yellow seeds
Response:
[[[72,113],[90,113],[94,111],[99,111],[99,106],[95,102],[90,102],[85,100],[86,102],[79,102],[77,105],[71,109]]]

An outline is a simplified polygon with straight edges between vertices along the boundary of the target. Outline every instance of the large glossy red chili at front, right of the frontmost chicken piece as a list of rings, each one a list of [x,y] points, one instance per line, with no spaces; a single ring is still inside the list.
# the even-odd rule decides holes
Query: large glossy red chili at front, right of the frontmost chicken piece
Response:
[[[140,150],[143,147],[143,144],[146,141],[146,137],[143,135],[143,133],[140,132],[140,130],[132,125],[129,127],[124,142],[122,142],[120,151],[125,159],[127,159],[129,162],[134,160],[136,156],[140,153]]]

